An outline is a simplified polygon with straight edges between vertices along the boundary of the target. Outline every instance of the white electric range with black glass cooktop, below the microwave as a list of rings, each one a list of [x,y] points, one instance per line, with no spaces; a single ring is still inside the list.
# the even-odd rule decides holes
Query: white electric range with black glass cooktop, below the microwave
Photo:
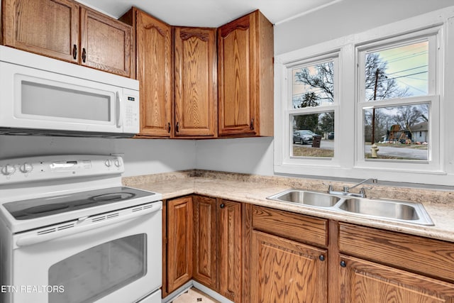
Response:
[[[161,194],[115,155],[0,160],[1,302],[161,300]]]

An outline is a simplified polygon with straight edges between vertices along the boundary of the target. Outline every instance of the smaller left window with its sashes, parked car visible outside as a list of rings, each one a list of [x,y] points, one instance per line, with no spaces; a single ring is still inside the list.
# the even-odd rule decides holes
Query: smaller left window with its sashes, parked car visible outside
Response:
[[[286,73],[286,155],[291,161],[335,160],[338,53],[294,62]]]

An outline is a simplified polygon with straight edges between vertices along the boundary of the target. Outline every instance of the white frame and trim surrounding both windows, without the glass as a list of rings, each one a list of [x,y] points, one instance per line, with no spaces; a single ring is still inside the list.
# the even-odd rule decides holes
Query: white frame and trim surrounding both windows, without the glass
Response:
[[[389,43],[417,40],[428,35],[436,35],[436,42],[429,48],[436,49],[436,60],[431,65],[431,78],[428,95],[392,99],[396,105],[428,103],[429,108],[429,160],[403,160],[403,165],[393,162],[365,160],[362,109],[365,106],[386,104],[387,101],[368,101],[361,98],[359,89],[360,72],[359,51],[371,45],[383,47]],[[408,43],[407,43],[408,44]],[[429,43],[430,44],[430,43]],[[434,45],[434,46],[433,46]],[[338,53],[338,103],[335,110],[335,157],[301,158],[290,157],[289,132],[293,109],[289,90],[289,69],[301,62],[314,61],[316,58]],[[429,60],[431,57],[429,57]],[[436,186],[454,185],[454,137],[449,130],[454,129],[454,90],[447,87],[454,83],[454,10],[442,9],[396,23],[372,28],[353,35],[326,41],[317,45],[294,50],[275,56],[275,140],[274,170],[280,175],[299,175],[302,177],[338,180],[339,178],[363,179],[375,177],[382,181],[397,183],[419,183]],[[452,87],[452,85],[451,85]],[[452,91],[452,92],[451,92]],[[407,99],[408,98],[408,99]],[[360,102],[363,101],[363,102]],[[384,103],[380,103],[384,102]],[[318,106],[314,111],[327,111],[328,106]],[[438,114],[436,114],[438,113]],[[453,138],[450,138],[453,137]],[[402,161],[402,160],[401,160]],[[375,164],[378,163],[378,164]],[[398,163],[398,162],[397,162]],[[394,163],[395,164],[395,163]]]

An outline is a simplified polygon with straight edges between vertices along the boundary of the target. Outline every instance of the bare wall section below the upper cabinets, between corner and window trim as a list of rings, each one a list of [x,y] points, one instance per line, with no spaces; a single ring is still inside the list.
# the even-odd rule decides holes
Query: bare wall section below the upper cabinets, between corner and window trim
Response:
[[[269,137],[197,141],[196,168],[273,175],[272,142]]]

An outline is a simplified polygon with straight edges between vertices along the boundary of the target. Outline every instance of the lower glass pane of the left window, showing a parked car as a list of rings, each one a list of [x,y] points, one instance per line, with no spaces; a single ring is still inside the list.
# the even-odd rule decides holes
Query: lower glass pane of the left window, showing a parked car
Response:
[[[293,116],[294,157],[334,157],[334,111]]]

